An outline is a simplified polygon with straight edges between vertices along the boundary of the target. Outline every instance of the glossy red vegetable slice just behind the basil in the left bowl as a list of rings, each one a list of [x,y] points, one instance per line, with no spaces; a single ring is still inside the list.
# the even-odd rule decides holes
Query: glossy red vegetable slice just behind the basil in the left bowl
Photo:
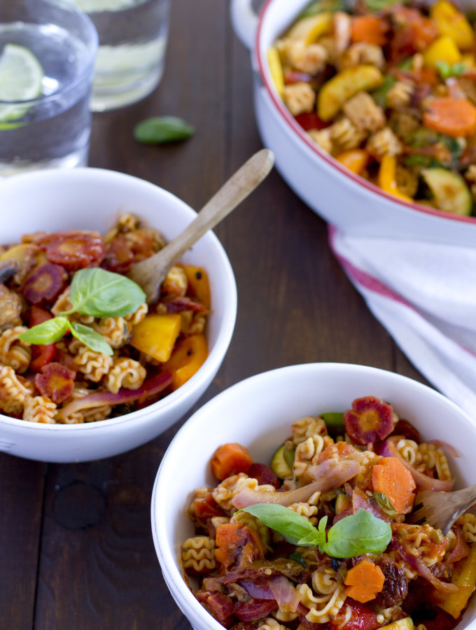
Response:
[[[69,271],[99,265],[105,253],[99,232],[85,230],[54,232],[40,239],[40,244],[44,246],[50,262],[56,262]]]

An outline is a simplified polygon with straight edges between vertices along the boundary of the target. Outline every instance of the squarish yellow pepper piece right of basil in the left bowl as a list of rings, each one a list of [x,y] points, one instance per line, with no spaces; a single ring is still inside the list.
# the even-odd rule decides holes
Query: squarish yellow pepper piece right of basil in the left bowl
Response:
[[[172,354],[181,328],[177,313],[146,315],[132,328],[131,346],[158,361],[167,361]]]

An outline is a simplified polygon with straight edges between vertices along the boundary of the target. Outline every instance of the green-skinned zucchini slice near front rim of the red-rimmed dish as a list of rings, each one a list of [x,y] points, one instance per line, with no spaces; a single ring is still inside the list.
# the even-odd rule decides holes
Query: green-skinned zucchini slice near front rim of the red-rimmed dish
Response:
[[[435,197],[437,209],[459,216],[471,214],[470,189],[461,175],[448,169],[423,169],[421,175]]]

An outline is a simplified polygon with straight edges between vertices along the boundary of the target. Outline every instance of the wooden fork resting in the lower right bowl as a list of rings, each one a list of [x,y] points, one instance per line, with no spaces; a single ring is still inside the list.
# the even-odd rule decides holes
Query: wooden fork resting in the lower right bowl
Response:
[[[405,519],[410,524],[431,525],[447,535],[461,514],[476,503],[476,484],[454,492],[422,490],[416,494],[414,510]]]

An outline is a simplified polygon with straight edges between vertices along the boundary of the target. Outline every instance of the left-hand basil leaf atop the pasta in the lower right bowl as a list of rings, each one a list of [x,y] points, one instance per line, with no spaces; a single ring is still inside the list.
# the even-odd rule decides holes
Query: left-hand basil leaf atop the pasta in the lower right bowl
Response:
[[[248,505],[240,512],[248,512],[260,519],[268,527],[278,531],[285,540],[293,545],[318,545],[322,534],[311,525],[306,517],[296,514],[293,510],[279,505],[279,503],[256,503]],[[325,535],[324,535],[325,538]],[[302,542],[305,540],[306,542]]]

